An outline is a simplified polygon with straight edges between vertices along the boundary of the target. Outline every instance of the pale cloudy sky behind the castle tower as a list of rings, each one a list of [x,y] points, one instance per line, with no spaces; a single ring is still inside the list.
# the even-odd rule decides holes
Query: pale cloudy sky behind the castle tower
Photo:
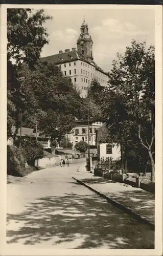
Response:
[[[77,49],[80,26],[85,15],[89,34],[94,42],[94,61],[104,71],[111,68],[117,52],[123,53],[131,40],[146,40],[154,45],[154,10],[152,9],[45,9],[53,16],[45,23],[50,43],[45,45],[41,57],[57,54],[59,50]]]

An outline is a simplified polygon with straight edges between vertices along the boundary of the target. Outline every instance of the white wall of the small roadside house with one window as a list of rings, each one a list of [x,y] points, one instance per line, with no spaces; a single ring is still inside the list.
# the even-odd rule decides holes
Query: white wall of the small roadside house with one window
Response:
[[[102,143],[100,144],[100,158],[107,158],[107,157],[112,157],[112,160],[120,160],[121,158],[121,151],[120,151],[120,146],[117,144],[114,144],[112,147],[112,154],[107,154],[106,153],[106,145],[109,143]],[[113,145],[113,144],[112,144]]]

